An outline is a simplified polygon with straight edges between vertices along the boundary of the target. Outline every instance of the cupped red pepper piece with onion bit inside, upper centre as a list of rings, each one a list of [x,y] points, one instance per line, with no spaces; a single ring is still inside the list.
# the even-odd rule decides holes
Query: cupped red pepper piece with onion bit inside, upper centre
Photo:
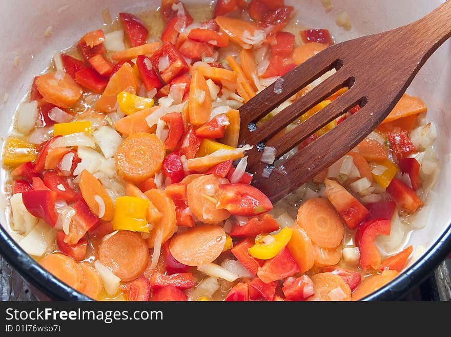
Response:
[[[165,42],[165,44],[150,57],[150,62],[155,69],[158,69],[160,57],[168,57],[169,59],[169,67],[159,70],[160,76],[165,83],[170,83],[175,76],[184,73],[189,69],[185,58],[175,50],[170,42]]]

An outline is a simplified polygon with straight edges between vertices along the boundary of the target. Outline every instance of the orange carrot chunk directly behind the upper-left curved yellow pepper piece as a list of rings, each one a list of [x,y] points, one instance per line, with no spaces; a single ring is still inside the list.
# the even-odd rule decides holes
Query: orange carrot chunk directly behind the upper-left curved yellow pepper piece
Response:
[[[97,101],[100,112],[112,112],[117,102],[117,95],[121,91],[135,93],[138,89],[138,79],[130,64],[124,63],[113,76],[111,76],[104,93]]]

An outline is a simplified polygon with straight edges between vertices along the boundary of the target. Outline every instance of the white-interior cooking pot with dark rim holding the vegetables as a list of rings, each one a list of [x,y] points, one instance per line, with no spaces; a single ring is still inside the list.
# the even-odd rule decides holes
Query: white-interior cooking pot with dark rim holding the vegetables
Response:
[[[186,4],[196,1],[183,1]],[[197,1],[197,3],[199,0]],[[210,2],[213,3],[213,2]],[[329,29],[336,42],[378,33],[415,21],[438,7],[441,0],[333,0],[333,9],[325,11],[320,0],[285,0],[295,6],[295,16],[303,26]],[[52,55],[75,44],[87,31],[101,28],[101,12],[108,8],[115,17],[119,12],[155,9],[158,0],[15,0],[4,2],[0,12],[0,135],[2,142],[11,131],[17,104],[27,94],[33,76],[43,71]],[[213,4],[214,5],[214,4]],[[189,8],[189,7],[188,7]],[[335,23],[346,12],[352,24],[344,30]],[[192,12],[195,19],[199,13]],[[197,15],[197,16],[196,16]],[[440,23],[438,23],[440,24]],[[50,28],[51,27],[51,28]],[[154,33],[150,27],[150,33]],[[356,51],[358,55],[359,51]],[[364,51],[360,51],[364,52]],[[451,42],[445,43],[426,62],[408,92],[418,95],[428,107],[427,119],[438,129],[435,142],[440,173],[433,189],[434,201],[425,227],[412,232],[409,244],[424,247],[417,260],[391,283],[365,300],[393,300],[418,285],[444,259],[451,248]],[[356,56],[357,57],[357,56]],[[3,145],[3,144],[2,144]],[[4,188],[5,172],[1,174]],[[2,196],[0,209],[8,203]],[[7,208],[6,208],[7,209]],[[0,214],[0,253],[39,293],[53,300],[89,300],[85,295],[58,281],[25,253],[8,234],[8,220]],[[44,296],[42,296],[44,298]]]

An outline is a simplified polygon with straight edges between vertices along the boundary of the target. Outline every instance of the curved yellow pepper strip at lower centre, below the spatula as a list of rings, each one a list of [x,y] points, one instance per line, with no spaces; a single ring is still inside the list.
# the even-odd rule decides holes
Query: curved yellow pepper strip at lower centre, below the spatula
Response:
[[[257,235],[255,245],[248,249],[249,254],[256,259],[272,259],[288,244],[292,232],[293,230],[291,228],[285,227],[275,235]]]

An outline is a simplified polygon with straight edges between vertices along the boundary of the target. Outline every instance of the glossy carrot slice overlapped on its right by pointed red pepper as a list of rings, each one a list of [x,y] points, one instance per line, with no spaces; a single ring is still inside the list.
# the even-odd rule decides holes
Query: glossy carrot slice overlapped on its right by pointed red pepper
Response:
[[[228,219],[227,209],[216,209],[219,185],[227,182],[215,174],[202,175],[188,184],[188,206],[202,222],[217,224]]]

